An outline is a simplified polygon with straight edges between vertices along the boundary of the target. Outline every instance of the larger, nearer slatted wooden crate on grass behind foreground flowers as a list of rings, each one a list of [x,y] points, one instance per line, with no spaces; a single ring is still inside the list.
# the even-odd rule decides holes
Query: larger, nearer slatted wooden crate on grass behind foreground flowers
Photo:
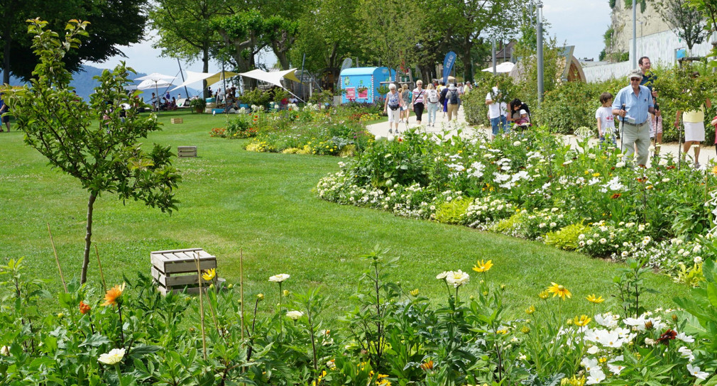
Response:
[[[181,292],[186,288],[190,294],[199,293],[199,276],[196,272],[196,259],[199,258],[199,269],[217,269],[217,257],[201,248],[175,249],[172,251],[150,252],[152,277],[159,291]],[[202,288],[211,282],[201,279]]]

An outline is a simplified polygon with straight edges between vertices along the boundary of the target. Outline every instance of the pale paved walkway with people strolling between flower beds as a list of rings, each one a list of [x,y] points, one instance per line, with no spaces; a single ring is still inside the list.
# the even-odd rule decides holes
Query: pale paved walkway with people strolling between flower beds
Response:
[[[454,122],[448,122],[447,117],[443,116],[442,112],[438,112],[436,116],[436,125],[435,127],[426,127],[426,124],[428,122],[428,114],[424,112],[423,114],[423,122],[422,122],[422,130],[425,132],[433,132],[433,133],[440,133],[443,132],[443,130],[450,130],[450,133],[452,135],[456,134],[455,127],[457,124],[462,124],[464,127],[462,135],[464,137],[474,135],[474,134],[483,134],[486,137],[490,137],[490,128],[485,127],[470,127],[465,122],[465,114],[463,112],[463,107],[461,107],[458,110],[458,118]],[[414,128],[417,127],[416,124],[416,115],[411,112],[411,117],[409,117],[409,123],[406,125],[406,123],[399,124],[399,131],[404,132],[404,130],[407,130],[407,128]],[[388,137],[392,138],[394,137],[394,133],[389,133],[389,122],[388,118],[386,117],[386,120],[384,122],[375,123],[374,125],[369,125],[368,130],[376,135],[376,137]],[[566,143],[569,143],[573,147],[577,147],[578,143],[578,137],[575,135],[563,135],[564,141]],[[591,145],[595,145],[598,143],[597,138],[592,138],[590,140]],[[619,145],[619,141],[618,141]],[[673,156],[675,160],[677,160],[678,157],[678,144],[677,143],[663,143],[663,145],[660,148],[660,153],[662,154],[670,154]],[[694,151],[690,150],[690,157],[694,155]],[[710,160],[713,160],[716,158],[715,154],[715,147],[708,143],[702,144],[702,149],[700,151],[700,163],[703,165],[703,168],[705,165],[708,165]]]

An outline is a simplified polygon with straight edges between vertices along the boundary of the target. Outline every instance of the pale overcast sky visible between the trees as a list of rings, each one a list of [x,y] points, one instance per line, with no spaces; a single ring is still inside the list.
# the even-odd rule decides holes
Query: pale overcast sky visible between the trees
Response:
[[[543,0],[543,17],[550,23],[547,32],[558,39],[558,44],[575,46],[575,57],[597,57],[604,48],[602,36],[610,24],[610,7],[607,0]],[[137,72],[159,72],[166,75],[179,74],[176,59],[159,57],[159,50],[151,47],[151,42],[120,47],[127,58],[113,57],[103,63],[88,63],[94,67],[112,68],[125,60],[128,66]],[[265,55],[260,62],[275,62]],[[209,72],[218,72],[222,65],[209,64]],[[201,62],[182,63],[182,69],[201,72]]]

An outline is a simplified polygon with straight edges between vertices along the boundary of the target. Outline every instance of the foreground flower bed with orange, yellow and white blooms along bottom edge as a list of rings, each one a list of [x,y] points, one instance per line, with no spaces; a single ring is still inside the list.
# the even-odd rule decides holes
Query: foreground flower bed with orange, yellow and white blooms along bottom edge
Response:
[[[275,295],[243,296],[212,284],[199,298],[161,296],[151,278],[102,295],[72,281],[57,294],[57,314],[37,307],[49,297],[24,274],[22,259],[1,266],[11,294],[0,308],[0,375],[4,385],[675,385],[716,380],[717,268],[675,301],[684,310],[641,307],[646,269],[618,269],[619,301],[573,293],[551,283],[508,319],[504,285],[490,282],[492,261],[470,274],[445,271],[439,304],[388,279],[397,259],[376,250],[337,321],[322,314],[318,289],[291,291],[289,274],[270,276]],[[214,281],[214,270],[201,277]],[[265,300],[276,304],[257,313]],[[248,298],[248,295],[247,295]],[[568,314],[567,301],[592,312]],[[253,310],[253,311],[252,311]],[[709,379],[708,379],[709,378]],[[642,383],[641,383],[642,382]]]

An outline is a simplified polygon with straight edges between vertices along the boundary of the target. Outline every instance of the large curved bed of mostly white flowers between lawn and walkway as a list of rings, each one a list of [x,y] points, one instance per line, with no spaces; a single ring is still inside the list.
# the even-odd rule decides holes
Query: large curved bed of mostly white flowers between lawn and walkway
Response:
[[[571,149],[540,129],[498,137],[407,132],[377,140],[318,182],[320,198],[541,240],[617,260],[647,259],[695,284],[714,259],[717,177],[668,158],[628,168],[615,148]],[[676,243],[685,243],[676,248]],[[688,279],[689,276],[689,279]]]

